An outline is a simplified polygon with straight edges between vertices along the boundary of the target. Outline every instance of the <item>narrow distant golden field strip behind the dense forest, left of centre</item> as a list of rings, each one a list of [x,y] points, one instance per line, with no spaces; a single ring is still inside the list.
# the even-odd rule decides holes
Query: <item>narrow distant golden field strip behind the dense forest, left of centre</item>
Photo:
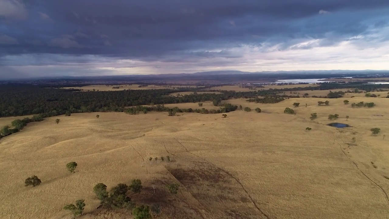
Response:
[[[119,87],[119,88],[112,88],[112,87]],[[117,91],[117,90],[155,90],[155,89],[174,89],[174,88],[186,88],[186,87],[196,87],[193,85],[149,85],[147,87],[139,87],[139,85],[88,85],[88,86],[82,86],[82,87],[63,87],[64,89],[81,89],[81,91],[92,91],[95,89],[96,91]]]

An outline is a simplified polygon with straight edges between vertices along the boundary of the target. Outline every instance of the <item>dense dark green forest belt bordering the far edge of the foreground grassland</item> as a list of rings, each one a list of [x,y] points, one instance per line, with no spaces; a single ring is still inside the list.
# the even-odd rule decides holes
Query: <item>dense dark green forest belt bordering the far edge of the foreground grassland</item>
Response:
[[[24,116],[42,114],[44,117],[81,112],[122,112],[131,106],[203,102],[213,101],[219,106],[221,101],[233,98],[251,98],[253,102],[274,103],[283,101],[284,98],[300,96],[286,95],[287,91],[296,90],[331,90],[351,88],[350,92],[367,92],[374,90],[388,90],[389,85],[362,84],[362,83],[321,83],[315,87],[298,87],[268,90],[252,90],[249,92],[235,92],[227,90],[218,91],[222,94],[191,94],[183,96],[170,96],[171,89],[158,90],[119,90],[77,92],[71,89],[44,88],[35,85],[8,84],[0,86],[0,117]],[[202,88],[179,88],[175,92],[200,91]],[[340,93],[331,93],[329,97],[340,97]],[[265,98],[259,99],[258,96]],[[221,106],[223,107],[223,106]],[[152,110],[152,109],[149,109]],[[221,110],[223,111],[223,110]]]

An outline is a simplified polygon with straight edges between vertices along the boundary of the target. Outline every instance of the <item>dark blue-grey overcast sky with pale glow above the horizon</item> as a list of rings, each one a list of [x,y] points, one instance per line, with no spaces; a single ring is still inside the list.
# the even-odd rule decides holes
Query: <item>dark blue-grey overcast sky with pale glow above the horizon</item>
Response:
[[[0,0],[2,78],[330,69],[389,69],[389,0]]]

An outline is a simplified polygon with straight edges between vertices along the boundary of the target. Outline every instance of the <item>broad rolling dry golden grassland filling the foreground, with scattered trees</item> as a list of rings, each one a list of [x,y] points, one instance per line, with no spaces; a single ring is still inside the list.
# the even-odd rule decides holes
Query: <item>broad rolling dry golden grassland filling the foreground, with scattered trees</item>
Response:
[[[345,99],[377,106],[351,108]],[[326,100],[329,106],[317,106]],[[93,194],[98,182],[110,188],[133,178],[141,179],[144,189],[131,194],[132,200],[160,202],[161,219],[388,218],[387,99],[300,98],[300,107],[293,108],[296,115],[283,113],[296,99],[228,102],[259,107],[263,113],[234,111],[227,118],[74,113],[29,123],[0,140],[0,218],[70,219],[63,206],[81,198],[86,203],[81,218],[133,218],[125,212],[99,212]],[[311,113],[318,118],[310,120]],[[329,114],[339,114],[336,122],[352,127],[326,125]],[[0,118],[0,124],[13,119]],[[378,136],[371,135],[373,127],[381,129]],[[166,155],[173,162],[148,161]],[[65,168],[71,161],[78,163],[75,173]],[[32,175],[42,184],[25,187],[25,178]],[[169,182],[180,184],[176,197],[166,192]],[[155,194],[152,184],[157,185]]]

